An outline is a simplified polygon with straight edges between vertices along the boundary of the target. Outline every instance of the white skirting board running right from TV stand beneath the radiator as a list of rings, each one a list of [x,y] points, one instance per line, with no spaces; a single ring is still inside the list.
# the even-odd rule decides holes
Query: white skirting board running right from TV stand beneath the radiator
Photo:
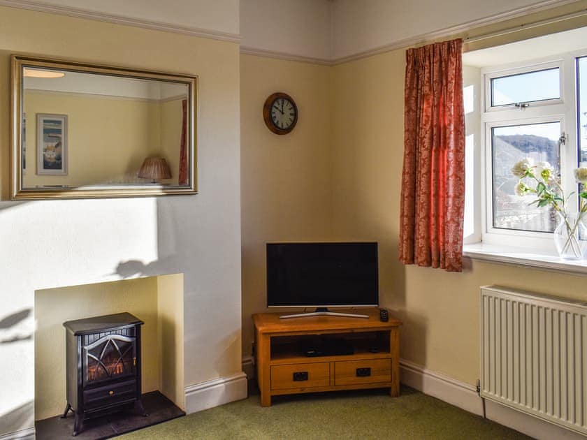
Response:
[[[403,359],[400,360],[400,374],[400,381],[405,385],[483,416],[481,397],[469,383],[457,381]],[[535,439],[585,440],[581,434],[489,400],[486,400],[486,417]]]

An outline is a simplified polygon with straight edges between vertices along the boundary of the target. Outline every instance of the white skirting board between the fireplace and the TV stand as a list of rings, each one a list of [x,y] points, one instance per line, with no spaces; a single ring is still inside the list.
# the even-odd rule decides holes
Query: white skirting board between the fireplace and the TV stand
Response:
[[[240,372],[185,387],[185,412],[196,413],[246,398],[247,375]]]

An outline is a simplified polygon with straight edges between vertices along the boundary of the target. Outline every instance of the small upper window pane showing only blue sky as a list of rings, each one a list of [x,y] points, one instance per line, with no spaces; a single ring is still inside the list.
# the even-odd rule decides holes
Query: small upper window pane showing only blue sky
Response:
[[[558,67],[491,80],[491,106],[560,98]]]

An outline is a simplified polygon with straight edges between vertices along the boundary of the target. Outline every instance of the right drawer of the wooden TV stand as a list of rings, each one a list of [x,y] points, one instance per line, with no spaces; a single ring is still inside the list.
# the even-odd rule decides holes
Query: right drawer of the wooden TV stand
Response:
[[[335,385],[391,382],[391,359],[337,361],[334,364]]]

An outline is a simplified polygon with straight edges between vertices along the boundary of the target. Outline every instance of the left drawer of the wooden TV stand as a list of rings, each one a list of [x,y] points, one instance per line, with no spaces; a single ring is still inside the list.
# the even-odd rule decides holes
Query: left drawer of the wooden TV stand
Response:
[[[314,388],[330,384],[328,362],[311,364],[273,365],[271,367],[271,389]]]

